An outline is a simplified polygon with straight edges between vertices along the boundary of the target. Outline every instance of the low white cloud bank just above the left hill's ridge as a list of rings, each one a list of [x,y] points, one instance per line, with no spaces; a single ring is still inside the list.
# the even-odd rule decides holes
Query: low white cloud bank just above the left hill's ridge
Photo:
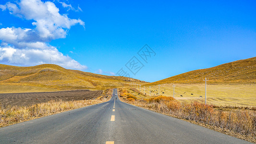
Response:
[[[69,56],[64,56],[54,47],[48,49],[15,49],[11,46],[0,47],[0,61],[23,65],[38,65],[52,61],[52,64],[57,64],[68,69],[87,69],[86,66],[81,65]]]

